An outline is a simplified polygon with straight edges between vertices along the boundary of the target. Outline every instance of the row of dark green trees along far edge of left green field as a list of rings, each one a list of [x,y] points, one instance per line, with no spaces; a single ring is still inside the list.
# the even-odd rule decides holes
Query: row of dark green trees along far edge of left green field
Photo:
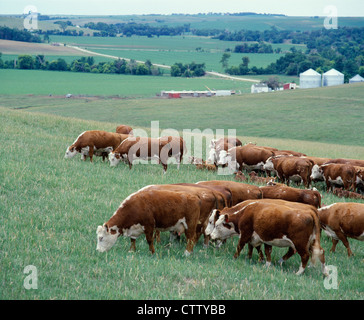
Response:
[[[68,64],[64,59],[58,58],[49,62],[44,55],[19,55],[16,60],[5,61],[1,59],[0,68],[4,69],[36,69],[51,71],[72,71],[72,72],[91,72],[91,73],[116,73],[116,74],[133,74],[133,75],[160,75],[161,71],[153,66],[150,60],[145,63],[138,63],[131,59],[126,61],[118,59],[110,62],[95,63],[93,57],[82,57],[73,60]]]

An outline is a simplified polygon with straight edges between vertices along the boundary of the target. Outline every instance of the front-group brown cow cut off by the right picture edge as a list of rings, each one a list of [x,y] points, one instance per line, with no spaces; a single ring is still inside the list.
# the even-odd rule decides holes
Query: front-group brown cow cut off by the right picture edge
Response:
[[[364,241],[364,204],[355,202],[334,203],[318,210],[322,229],[332,238],[331,252],[342,241],[350,257],[349,238]]]

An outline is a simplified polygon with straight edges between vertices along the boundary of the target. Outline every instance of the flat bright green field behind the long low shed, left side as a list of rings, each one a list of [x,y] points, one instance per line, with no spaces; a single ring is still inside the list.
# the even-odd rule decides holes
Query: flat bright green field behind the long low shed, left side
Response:
[[[155,97],[162,90],[236,90],[249,92],[250,82],[223,78],[132,76],[62,71],[0,69],[2,95],[74,95]]]

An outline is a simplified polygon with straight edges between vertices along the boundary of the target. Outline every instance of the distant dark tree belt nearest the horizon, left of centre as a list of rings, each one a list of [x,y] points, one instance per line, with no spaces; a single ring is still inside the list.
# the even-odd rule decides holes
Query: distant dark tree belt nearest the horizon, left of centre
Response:
[[[185,24],[183,26],[177,27],[169,27],[169,26],[151,26],[149,24],[142,23],[116,23],[116,24],[108,24],[104,22],[89,22],[86,23],[84,28],[89,28],[92,30],[98,30],[99,33],[94,33],[95,35],[102,37],[115,37],[117,34],[123,34],[127,37],[131,37],[132,35],[137,36],[177,36],[181,35],[184,32],[190,31],[190,25]]]

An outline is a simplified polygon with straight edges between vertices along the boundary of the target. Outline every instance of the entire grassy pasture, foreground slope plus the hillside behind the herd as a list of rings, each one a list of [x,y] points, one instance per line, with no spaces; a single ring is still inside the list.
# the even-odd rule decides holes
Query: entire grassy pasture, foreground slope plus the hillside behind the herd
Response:
[[[363,243],[349,240],[354,256],[348,258],[342,243],[329,252],[331,240],[324,234],[326,263],[338,271],[337,289],[325,287],[319,267],[296,276],[298,255],[281,267],[284,248],[273,248],[270,268],[258,262],[256,252],[249,260],[246,248],[234,260],[237,238],[220,249],[204,249],[200,239],[190,257],[183,256],[185,238],[170,242],[168,233],[162,233],[155,255],[143,236],[136,252],[128,252],[129,239],[120,238],[99,253],[97,226],[132,192],[148,184],[233,178],[188,164],[180,170],[171,164],[163,175],[153,164],[129,170],[101,159],[64,159],[66,147],[85,130],[114,131],[126,123],[149,132],[153,120],[161,130],[181,134],[235,128],[244,142],[363,159],[362,89],[178,100],[0,96],[0,144],[6,150],[0,165],[0,299],[362,300]],[[316,186],[324,204],[345,201]],[[24,286],[26,266],[37,270],[36,290]]]

